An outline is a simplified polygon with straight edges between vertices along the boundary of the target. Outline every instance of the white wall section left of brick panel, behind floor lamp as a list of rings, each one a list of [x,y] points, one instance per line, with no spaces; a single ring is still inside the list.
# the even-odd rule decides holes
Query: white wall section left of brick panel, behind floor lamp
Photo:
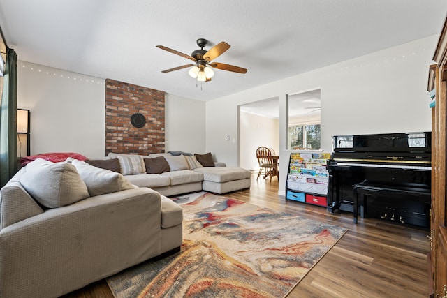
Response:
[[[17,61],[17,107],[31,111],[31,155],[104,155],[105,80]]]

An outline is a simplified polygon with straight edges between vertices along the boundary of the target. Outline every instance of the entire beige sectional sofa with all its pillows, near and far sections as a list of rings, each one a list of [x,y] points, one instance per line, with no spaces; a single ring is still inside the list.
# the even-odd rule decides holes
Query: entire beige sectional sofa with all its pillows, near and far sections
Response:
[[[0,190],[0,297],[59,297],[179,251],[183,210],[167,195],[250,187],[211,154],[44,156]]]

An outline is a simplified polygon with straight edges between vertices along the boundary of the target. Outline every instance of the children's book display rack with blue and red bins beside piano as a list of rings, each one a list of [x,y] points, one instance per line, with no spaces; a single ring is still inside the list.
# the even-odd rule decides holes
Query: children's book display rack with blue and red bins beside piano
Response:
[[[286,200],[327,207],[328,153],[291,153],[286,181]]]

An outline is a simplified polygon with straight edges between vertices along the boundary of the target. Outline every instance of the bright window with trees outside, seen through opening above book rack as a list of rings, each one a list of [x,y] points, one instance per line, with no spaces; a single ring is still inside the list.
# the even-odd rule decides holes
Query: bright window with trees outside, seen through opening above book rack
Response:
[[[288,127],[288,148],[293,150],[321,148],[321,125],[296,125]]]

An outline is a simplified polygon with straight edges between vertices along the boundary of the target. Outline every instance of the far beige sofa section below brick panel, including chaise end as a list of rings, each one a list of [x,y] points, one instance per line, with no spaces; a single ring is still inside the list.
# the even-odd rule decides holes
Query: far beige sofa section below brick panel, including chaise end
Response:
[[[132,184],[152,188],[166,196],[193,191],[209,191],[222,194],[250,188],[251,184],[251,172],[249,170],[241,167],[226,167],[225,163],[212,161],[210,153],[197,154],[196,156],[192,156],[192,154],[190,156],[173,156],[170,153],[149,154],[149,156],[110,153],[108,158],[118,160],[116,163],[120,164],[122,174]],[[125,161],[125,159],[129,158],[134,160],[135,166],[133,171],[126,172],[124,168],[126,163],[130,162]],[[145,163],[148,158],[166,160],[169,170],[155,171],[156,174],[152,173],[149,169],[151,164]],[[137,166],[138,164],[140,165]]]

